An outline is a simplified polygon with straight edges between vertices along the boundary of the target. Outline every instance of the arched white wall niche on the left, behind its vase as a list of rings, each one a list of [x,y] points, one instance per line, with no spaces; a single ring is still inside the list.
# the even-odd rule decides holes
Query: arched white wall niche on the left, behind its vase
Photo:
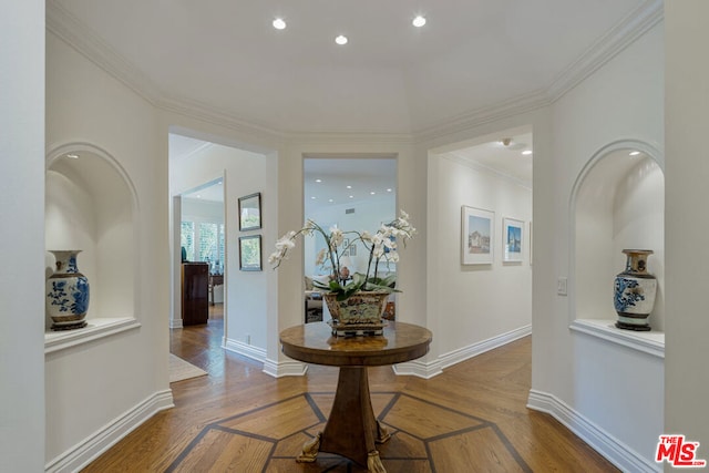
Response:
[[[138,199],[125,169],[99,146],[59,146],[47,156],[44,199],[45,276],[54,266],[49,250],[81,249],[79,269],[91,285],[89,326],[51,332],[45,317],[45,348],[135,322]]]

